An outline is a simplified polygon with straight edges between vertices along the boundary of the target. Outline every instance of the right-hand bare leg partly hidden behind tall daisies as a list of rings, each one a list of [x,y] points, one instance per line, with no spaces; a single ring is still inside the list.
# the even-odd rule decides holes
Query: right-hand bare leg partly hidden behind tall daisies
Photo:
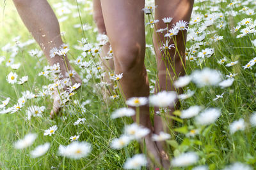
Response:
[[[157,8],[155,13],[155,19],[158,19],[160,21],[156,24],[156,29],[166,27],[166,24],[164,24],[164,22],[162,21],[162,18],[164,17],[173,17],[171,24],[169,24],[169,29],[170,27],[172,27],[172,24],[179,22],[179,20],[185,20],[189,22],[193,3],[193,0],[156,0]],[[175,74],[177,76],[184,75],[184,67],[182,65],[182,62],[185,65],[184,55],[186,44],[186,31],[183,31],[185,42],[181,31],[176,36],[177,50],[179,51],[179,53],[173,48],[171,50],[168,50],[170,55],[167,62],[164,62],[163,57],[168,58],[168,56],[166,56],[163,52],[161,53],[159,50],[159,47],[163,46],[165,33],[166,32],[159,35],[154,34],[154,46],[156,48],[157,54],[157,70],[159,71],[158,80],[156,81],[156,92],[159,92],[161,90],[175,90],[172,84],[173,78],[175,79]],[[171,44],[174,44],[174,42],[170,41],[169,45]],[[180,58],[182,58],[182,60],[180,60]],[[172,64],[172,66],[175,66],[176,73],[174,73],[170,64]],[[170,74],[168,74],[168,72]],[[173,108],[171,109],[173,110]],[[154,117],[154,132],[156,134],[159,134],[160,131],[164,130],[166,130],[164,129],[164,122],[162,122],[161,117],[156,115]],[[162,157],[164,157],[163,143],[157,143],[157,146],[159,147],[159,151],[163,153]]]

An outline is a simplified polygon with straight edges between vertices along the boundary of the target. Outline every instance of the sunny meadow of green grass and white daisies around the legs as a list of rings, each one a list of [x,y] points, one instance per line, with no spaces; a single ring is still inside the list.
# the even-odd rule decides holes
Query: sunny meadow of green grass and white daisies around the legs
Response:
[[[52,68],[12,1],[1,1],[0,169],[147,169],[147,148],[140,148],[140,134],[118,141],[133,121],[120,115],[113,118],[116,110],[128,106],[116,88],[122,76],[102,66],[100,50],[106,37],[99,36],[93,22],[92,1],[49,3],[68,45],[68,59],[83,83],[65,96],[61,115],[51,119],[51,89],[58,85],[45,72],[50,75]],[[146,2],[145,8],[150,6],[154,1]],[[184,91],[175,96],[180,106],[169,116],[163,104],[169,99],[158,101],[164,120],[175,121],[169,135],[156,136],[166,141],[170,169],[256,169],[255,12],[254,0],[195,1],[186,76],[173,81]],[[152,16],[145,15],[145,66],[154,117],[157,66]],[[104,74],[110,74],[111,84],[103,81]],[[109,89],[113,90],[106,99],[103,91]]]

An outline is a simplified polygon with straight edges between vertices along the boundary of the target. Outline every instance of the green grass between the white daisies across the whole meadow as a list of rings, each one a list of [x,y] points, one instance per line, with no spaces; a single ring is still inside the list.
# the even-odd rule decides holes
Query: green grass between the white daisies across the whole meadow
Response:
[[[51,1],[51,4],[58,2],[57,0]],[[76,6],[75,1],[68,2]],[[92,10],[83,10],[84,7],[91,8],[90,4],[90,1],[86,4],[79,4],[79,9],[81,10],[83,24],[92,25],[94,29],[95,24],[93,23],[92,15],[90,15]],[[214,6],[219,6],[219,11],[225,13],[225,11],[228,11],[227,4],[216,3]],[[210,10],[212,5],[213,3],[210,1],[195,4],[195,6],[200,6],[198,11],[204,15],[212,13]],[[256,5],[249,4],[248,7],[255,9]],[[32,39],[26,27],[22,24],[17,11],[15,11],[12,1],[2,1],[0,9],[1,48],[7,43],[15,45],[12,39],[17,36],[20,36],[19,41],[21,42]],[[236,11],[240,9],[241,7],[234,8]],[[77,9],[72,9],[72,13],[77,13]],[[73,25],[80,24],[80,20],[79,18],[72,18],[72,13],[67,15],[69,19],[61,22],[60,26],[61,31],[65,31],[63,40],[71,48],[68,57],[69,59],[76,59],[77,56],[81,55],[81,51],[73,47],[74,45],[79,45],[77,40],[81,40],[85,35],[89,43],[95,43],[97,32],[93,32],[93,29],[83,32],[81,29],[74,28]],[[255,15],[249,17],[256,19]],[[230,33],[230,29],[236,26],[243,18],[248,18],[248,16],[239,12],[236,17],[225,16],[223,18],[223,21],[227,23],[225,28],[218,29],[216,27],[217,24],[207,27],[206,31],[216,31],[214,34],[223,36],[224,39],[214,43],[209,40],[214,34],[205,34],[203,41],[205,44],[200,46],[198,52],[205,48],[214,48],[214,54],[198,62],[198,64],[196,64],[196,61],[187,61],[186,71],[188,74],[191,74],[196,69],[211,67],[219,70],[223,75],[237,73],[237,76],[235,76],[233,85],[225,89],[220,87],[198,88],[193,83],[184,88],[185,91],[188,89],[195,91],[195,95],[181,101],[179,110],[193,105],[204,106],[204,108],[215,107],[221,109],[221,117],[212,125],[200,127],[200,134],[196,135],[195,138],[188,138],[185,134],[191,129],[197,128],[193,118],[180,120],[178,116],[175,116],[180,122],[177,122],[172,128],[172,139],[167,142],[171,158],[183,152],[193,151],[198,153],[200,157],[195,165],[207,164],[209,169],[222,169],[233,162],[243,162],[256,167],[256,129],[249,124],[250,116],[256,108],[255,67],[252,67],[252,69],[243,69],[242,67],[256,56],[256,48],[251,42],[251,40],[255,39],[255,34],[249,34],[237,39],[237,33]],[[220,19],[216,20],[216,22],[219,21]],[[200,27],[200,25],[191,25],[191,27]],[[147,44],[152,44],[149,27],[147,27],[147,32]],[[194,44],[195,41],[188,41],[187,48]],[[50,83],[49,80],[38,76],[38,73],[47,65],[46,59],[41,57],[42,60],[39,60],[36,57],[29,56],[29,50],[35,48],[40,49],[35,43],[19,48],[19,52],[15,57],[15,63],[21,63],[20,68],[15,72],[19,77],[29,76],[28,82],[24,85],[10,85],[6,81],[6,76],[13,70],[5,65],[6,61],[1,64],[0,101],[4,100],[5,97],[10,97],[11,100],[8,107],[17,103],[17,99],[22,96],[21,92],[29,90],[37,94],[42,90],[43,85]],[[6,60],[10,59],[10,55],[10,53],[0,50],[0,56],[6,57]],[[232,67],[218,64],[217,61],[223,57],[227,57],[227,63],[239,60],[239,64]],[[92,58],[87,57],[85,60],[89,61]],[[100,59],[95,57],[95,60],[99,61]],[[154,80],[157,73],[156,60],[149,48],[146,50],[145,65],[150,70],[150,73],[148,73],[149,80]],[[81,75],[83,74],[83,77],[88,74],[77,67],[76,69]],[[54,120],[49,118],[52,107],[52,99],[50,97],[37,97],[36,99],[28,100],[20,111],[13,114],[0,115],[0,169],[51,169],[51,167],[58,169],[122,169],[128,157],[141,153],[140,146],[136,141],[133,141],[122,150],[113,150],[110,147],[112,139],[118,138],[123,132],[124,125],[131,124],[132,120],[131,118],[111,119],[111,113],[117,108],[124,107],[125,102],[122,97],[110,103],[104,102],[102,93],[99,88],[96,88],[96,84],[99,82],[100,79],[93,76],[88,83],[84,83],[77,94],[72,97],[72,101],[61,112],[63,116],[67,117],[65,120],[63,117],[57,117]],[[150,85],[154,85],[152,81],[150,81]],[[212,101],[217,94],[223,92],[225,92],[223,98]],[[116,94],[120,94],[120,92],[116,90]],[[81,104],[87,99],[90,99],[90,103],[86,104],[86,111],[83,111]],[[79,102],[76,104],[75,100]],[[27,120],[26,109],[31,105],[45,106],[46,110],[43,113],[43,117],[33,117],[31,120]],[[73,124],[77,118],[86,118],[86,121],[84,124],[75,126]],[[248,122],[246,129],[230,134],[229,125],[239,118],[244,118],[245,122]],[[44,136],[44,131],[52,125],[58,126],[56,133],[52,136]],[[23,150],[15,149],[13,143],[18,139],[24,138],[29,132],[38,134],[35,143]],[[69,138],[75,134],[80,134],[79,141],[87,141],[92,145],[92,153],[80,160],[64,159],[58,155],[58,147],[59,145],[70,144]],[[29,152],[35,146],[42,145],[45,142],[51,143],[49,151],[42,157],[31,158]],[[184,167],[183,169],[192,169],[192,167]],[[177,169],[182,168],[178,167]]]

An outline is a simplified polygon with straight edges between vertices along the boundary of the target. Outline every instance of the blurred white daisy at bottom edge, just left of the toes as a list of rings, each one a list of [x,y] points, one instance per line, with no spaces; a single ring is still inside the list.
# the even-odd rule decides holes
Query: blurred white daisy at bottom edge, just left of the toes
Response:
[[[146,166],[147,159],[143,154],[134,155],[125,161],[124,169],[140,169],[141,166]]]

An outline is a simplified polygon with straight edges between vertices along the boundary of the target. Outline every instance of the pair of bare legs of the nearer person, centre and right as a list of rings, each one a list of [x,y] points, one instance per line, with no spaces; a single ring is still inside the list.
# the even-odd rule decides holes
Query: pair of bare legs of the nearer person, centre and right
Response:
[[[106,31],[110,39],[113,52],[115,54],[115,73],[124,73],[124,77],[120,80],[120,85],[124,92],[125,98],[148,96],[148,78],[144,66],[145,57],[145,27],[144,14],[141,9],[145,1],[120,1],[109,0],[101,1],[102,13],[106,25]],[[162,20],[164,17],[173,17],[170,24],[175,24],[179,20],[189,21],[191,11],[193,8],[193,1],[190,0],[156,0],[155,19]],[[111,9],[111,10],[109,10]],[[116,15],[118,13],[118,15]],[[136,17],[134,17],[136,16]],[[158,22],[156,29],[165,28],[166,24]],[[184,39],[181,32],[177,38],[177,49],[169,50],[170,60],[175,59],[175,63],[163,62],[163,53],[160,52],[159,47],[164,43],[164,34],[154,34],[154,47],[156,49],[158,79],[156,83],[156,93],[161,90],[175,90],[171,80],[177,76],[184,74],[184,52],[186,44],[186,31],[183,31]],[[173,44],[173,41],[169,43]],[[182,60],[180,60],[180,58]],[[170,67],[175,66],[175,73]],[[170,76],[167,76],[167,71]],[[168,74],[168,75],[169,75]],[[173,108],[172,108],[173,109]],[[156,108],[157,111],[157,108]],[[133,117],[134,122],[136,121]],[[148,106],[140,108],[140,124],[153,129],[149,118]],[[166,131],[164,122],[161,117],[154,117],[154,133],[159,134],[161,131]],[[150,136],[146,139],[147,149],[151,152],[157,162],[161,162],[165,169],[170,167],[168,155],[164,152],[164,143],[157,142],[156,144],[150,140]],[[157,147],[156,147],[157,146]]]

